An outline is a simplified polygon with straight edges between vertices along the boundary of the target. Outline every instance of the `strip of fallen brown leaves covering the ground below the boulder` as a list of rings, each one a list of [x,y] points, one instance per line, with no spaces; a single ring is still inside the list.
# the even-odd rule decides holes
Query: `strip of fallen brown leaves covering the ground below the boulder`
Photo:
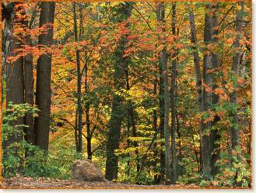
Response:
[[[58,180],[51,178],[33,178],[33,177],[12,177],[2,178],[2,188],[200,188],[198,184],[172,184],[172,185],[138,185],[138,184],[124,184],[114,183],[110,181],[104,182],[79,182],[72,180]]]

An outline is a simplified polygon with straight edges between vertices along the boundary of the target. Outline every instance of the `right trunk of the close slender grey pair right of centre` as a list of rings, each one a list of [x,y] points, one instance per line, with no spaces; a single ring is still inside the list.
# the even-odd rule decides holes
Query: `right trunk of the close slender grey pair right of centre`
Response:
[[[176,3],[172,5],[172,33],[176,34]],[[177,50],[172,55],[172,67],[171,67],[171,88],[170,88],[170,105],[171,105],[171,152],[172,152],[172,177],[171,182],[175,184],[177,181],[177,154],[176,154],[176,79],[177,79]]]

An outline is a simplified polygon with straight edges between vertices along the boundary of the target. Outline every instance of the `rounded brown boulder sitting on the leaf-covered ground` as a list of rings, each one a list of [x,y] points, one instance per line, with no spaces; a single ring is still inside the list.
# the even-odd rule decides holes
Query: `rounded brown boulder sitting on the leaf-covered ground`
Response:
[[[77,160],[72,164],[72,179],[76,181],[105,181],[103,174],[92,160]]]

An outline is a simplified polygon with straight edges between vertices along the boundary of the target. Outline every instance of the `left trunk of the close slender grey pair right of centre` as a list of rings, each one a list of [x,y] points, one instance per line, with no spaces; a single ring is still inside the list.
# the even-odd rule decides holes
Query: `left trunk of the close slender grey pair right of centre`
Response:
[[[165,25],[165,5],[163,2],[160,2],[157,5],[157,22],[159,27],[163,27]],[[162,26],[163,25],[163,26]],[[162,31],[164,32],[164,27],[162,28]],[[163,50],[160,52],[159,57],[159,64],[161,67],[163,67],[163,84],[164,84],[164,140],[165,140],[165,174],[166,174],[166,180],[167,183],[170,183],[171,174],[170,174],[170,167],[171,167],[171,161],[170,161],[170,132],[169,132],[169,84],[168,84],[168,67],[167,67],[167,48],[164,47]]]

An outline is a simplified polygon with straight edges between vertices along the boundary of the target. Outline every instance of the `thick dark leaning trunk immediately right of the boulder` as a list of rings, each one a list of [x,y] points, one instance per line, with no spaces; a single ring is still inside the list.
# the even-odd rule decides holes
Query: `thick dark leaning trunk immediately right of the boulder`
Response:
[[[128,19],[132,15],[132,6],[128,3],[120,5],[120,9],[117,10],[117,20],[119,22]],[[119,91],[124,88],[125,85],[125,67],[128,65],[128,58],[124,55],[124,44],[126,37],[121,37],[117,50],[115,51],[114,60],[114,88]],[[109,122],[109,133],[107,138],[107,160],[106,160],[106,173],[107,180],[112,181],[117,179],[118,173],[118,157],[114,154],[114,150],[119,148],[119,140],[121,135],[121,122],[124,118],[124,105],[123,98],[120,95],[114,95],[112,101],[112,113]]]

